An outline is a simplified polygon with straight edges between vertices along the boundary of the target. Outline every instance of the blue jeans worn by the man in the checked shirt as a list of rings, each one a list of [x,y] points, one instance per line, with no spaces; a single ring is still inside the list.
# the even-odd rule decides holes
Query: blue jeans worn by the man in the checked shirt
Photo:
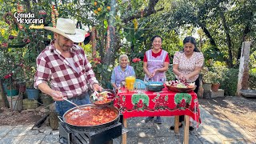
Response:
[[[71,102],[76,103],[78,106],[91,103],[90,102],[90,98],[89,98],[89,94],[87,92],[84,93],[84,94],[79,95],[76,98],[69,98],[69,100]],[[73,104],[71,104],[70,102],[66,102],[65,100],[64,101],[56,101],[55,102],[56,112],[61,117],[66,113],[67,110],[70,110],[73,107],[75,107]]]

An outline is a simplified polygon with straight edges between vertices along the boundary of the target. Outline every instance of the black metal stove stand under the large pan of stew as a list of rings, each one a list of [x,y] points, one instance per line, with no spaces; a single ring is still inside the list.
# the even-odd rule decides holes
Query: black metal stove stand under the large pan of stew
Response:
[[[59,142],[61,144],[112,144],[114,138],[122,135],[122,123],[97,128],[72,130],[65,122],[58,122]]]

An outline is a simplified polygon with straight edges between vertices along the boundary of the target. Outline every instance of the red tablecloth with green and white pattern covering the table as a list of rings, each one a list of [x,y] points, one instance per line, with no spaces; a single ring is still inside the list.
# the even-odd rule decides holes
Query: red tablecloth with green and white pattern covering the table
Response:
[[[161,92],[142,90],[138,93],[122,89],[118,90],[114,106],[120,109],[123,118],[189,115],[201,123],[198,97],[194,91],[175,93],[164,88]]]

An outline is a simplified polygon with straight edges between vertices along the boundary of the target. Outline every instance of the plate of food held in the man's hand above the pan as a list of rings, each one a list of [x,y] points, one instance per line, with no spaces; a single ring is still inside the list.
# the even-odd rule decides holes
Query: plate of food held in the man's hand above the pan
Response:
[[[90,95],[90,102],[97,106],[106,106],[115,98],[114,90],[103,89],[101,92],[94,91]]]

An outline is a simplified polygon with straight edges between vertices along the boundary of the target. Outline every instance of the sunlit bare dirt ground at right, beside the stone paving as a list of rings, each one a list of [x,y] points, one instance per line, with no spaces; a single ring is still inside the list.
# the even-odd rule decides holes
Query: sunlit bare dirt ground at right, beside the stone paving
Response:
[[[246,132],[256,135],[256,98],[228,96],[225,98],[199,98],[199,105],[219,119],[229,119]]]

